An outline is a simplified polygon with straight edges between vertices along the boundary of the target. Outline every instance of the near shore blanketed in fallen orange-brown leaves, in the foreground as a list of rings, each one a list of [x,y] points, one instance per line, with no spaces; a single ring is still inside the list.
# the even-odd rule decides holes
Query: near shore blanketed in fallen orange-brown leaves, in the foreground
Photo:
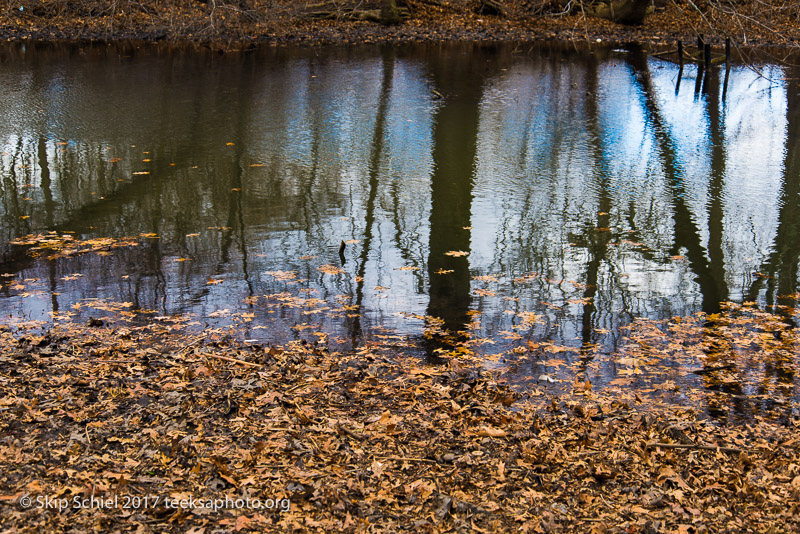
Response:
[[[0,337],[4,532],[800,530],[796,418],[167,318]]]

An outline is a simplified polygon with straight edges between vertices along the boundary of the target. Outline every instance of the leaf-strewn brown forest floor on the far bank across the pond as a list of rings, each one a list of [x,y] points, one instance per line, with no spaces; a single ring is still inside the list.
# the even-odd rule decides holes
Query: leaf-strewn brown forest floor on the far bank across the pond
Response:
[[[656,0],[640,26],[585,16],[580,9],[554,13],[557,2],[499,2],[503,15],[481,12],[472,0],[398,2],[407,18],[396,25],[352,20],[376,7],[361,0],[297,2],[230,0],[0,1],[0,38],[6,40],[168,40],[205,43],[219,50],[256,43],[364,43],[406,41],[569,40],[667,44],[703,34],[719,44],[800,45],[800,8],[787,0],[687,2]],[[572,3],[570,3],[572,5]],[[583,5],[575,2],[575,6]],[[698,7],[700,6],[700,7]],[[547,12],[549,11],[549,12]]]

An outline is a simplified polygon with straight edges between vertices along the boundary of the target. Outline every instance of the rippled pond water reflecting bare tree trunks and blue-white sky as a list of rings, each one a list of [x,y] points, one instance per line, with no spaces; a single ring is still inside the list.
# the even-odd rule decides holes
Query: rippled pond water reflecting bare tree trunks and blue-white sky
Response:
[[[0,316],[429,353],[426,328],[467,328],[497,356],[791,309],[798,75],[568,45],[4,45]],[[136,246],[14,244],[47,232]]]

